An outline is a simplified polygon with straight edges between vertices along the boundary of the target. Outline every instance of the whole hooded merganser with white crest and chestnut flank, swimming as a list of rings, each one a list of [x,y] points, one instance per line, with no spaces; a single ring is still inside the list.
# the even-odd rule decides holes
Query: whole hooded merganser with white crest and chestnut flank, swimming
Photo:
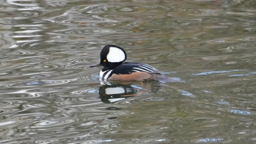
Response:
[[[177,78],[169,78],[154,67],[139,62],[124,62],[127,55],[123,48],[106,45],[101,50],[100,61],[90,67],[103,66],[99,77],[116,81],[146,81],[157,80],[176,82]]]

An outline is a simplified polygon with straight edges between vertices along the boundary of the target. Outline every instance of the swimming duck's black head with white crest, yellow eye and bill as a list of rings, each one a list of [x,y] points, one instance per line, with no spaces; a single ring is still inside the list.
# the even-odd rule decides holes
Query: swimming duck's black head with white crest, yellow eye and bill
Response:
[[[115,45],[106,45],[101,50],[100,61],[90,67],[103,66],[104,69],[112,69],[121,65],[126,60],[126,53],[123,48]]]

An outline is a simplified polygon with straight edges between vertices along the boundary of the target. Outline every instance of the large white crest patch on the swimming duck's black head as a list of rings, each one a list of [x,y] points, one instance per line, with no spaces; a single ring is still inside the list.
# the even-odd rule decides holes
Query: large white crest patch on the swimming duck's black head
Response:
[[[124,61],[125,54],[117,47],[110,47],[107,59],[109,62],[121,62]]]

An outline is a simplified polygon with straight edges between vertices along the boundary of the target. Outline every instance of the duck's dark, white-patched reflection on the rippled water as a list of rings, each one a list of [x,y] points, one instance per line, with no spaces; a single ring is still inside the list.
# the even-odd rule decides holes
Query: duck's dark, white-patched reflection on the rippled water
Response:
[[[160,89],[158,81],[109,82],[102,81],[99,97],[104,103],[114,103],[128,97],[156,93]]]

